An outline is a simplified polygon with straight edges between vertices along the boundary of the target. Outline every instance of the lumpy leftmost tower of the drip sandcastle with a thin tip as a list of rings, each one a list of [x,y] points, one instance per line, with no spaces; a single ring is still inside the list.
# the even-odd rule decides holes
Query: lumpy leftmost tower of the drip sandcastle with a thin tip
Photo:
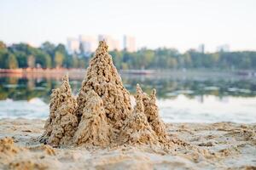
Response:
[[[45,122],[41,142],[59,145],[70,141],[78,126],[77,116],[74,115],[76,108],[76,99],[66,75],[62,78],[61,88],[54,89],[50,95],[49,118]]]

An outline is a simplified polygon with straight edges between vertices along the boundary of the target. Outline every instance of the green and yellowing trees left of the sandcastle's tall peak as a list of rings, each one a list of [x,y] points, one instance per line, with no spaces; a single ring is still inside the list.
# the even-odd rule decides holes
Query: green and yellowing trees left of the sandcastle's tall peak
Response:
[[[40,48],[26,43],[7,47],[0,42],[0,68],[84,68],[88,58],[79,58],[78,54],[68,54],[63,44],[44,42]]]

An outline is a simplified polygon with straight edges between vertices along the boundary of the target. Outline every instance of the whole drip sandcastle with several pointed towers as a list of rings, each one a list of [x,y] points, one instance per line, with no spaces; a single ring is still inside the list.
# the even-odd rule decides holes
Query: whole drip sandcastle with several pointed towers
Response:
[[[108,54],[99,42],[90,60],[79,95],[72,95],[68,77],[50,95],[49,119],[41,142],[54,146],[111,144],[165,144],[165,124],[156,105],[156,91],[144,94],[137,85],[136,106]]]

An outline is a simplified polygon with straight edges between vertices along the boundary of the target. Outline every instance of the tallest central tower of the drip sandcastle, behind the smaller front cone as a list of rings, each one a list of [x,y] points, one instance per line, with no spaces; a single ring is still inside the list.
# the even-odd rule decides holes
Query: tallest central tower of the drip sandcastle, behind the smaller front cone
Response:
[[[126,117],[131,114],[131,100],[129,92],[124,88],[118,71],[113,65],[112,57],[108,54],[106,42],[99,42],[96,54],[90,60],[82,88],[79,91],[76,115],[83,115],[88,91],[93,90],[102,99],[103,108],[108,124],[114,132],[119,131]]]

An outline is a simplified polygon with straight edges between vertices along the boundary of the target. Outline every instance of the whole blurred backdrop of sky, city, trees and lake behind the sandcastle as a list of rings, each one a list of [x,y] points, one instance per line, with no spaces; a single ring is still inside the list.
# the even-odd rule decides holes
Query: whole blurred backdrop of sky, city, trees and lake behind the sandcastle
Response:
[[[77,94],[98,41],[125,88],[157,89],[165,122],[256,122],[253,0],[1,0],[0,118],[46,118]]]

